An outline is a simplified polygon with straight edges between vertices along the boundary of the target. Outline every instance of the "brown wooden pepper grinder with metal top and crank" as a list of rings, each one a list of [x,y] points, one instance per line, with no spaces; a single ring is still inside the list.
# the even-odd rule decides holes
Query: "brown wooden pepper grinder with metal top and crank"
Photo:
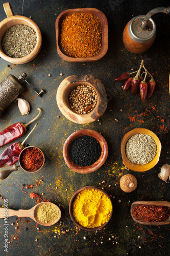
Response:
[[[142,53],[152,46],[156,37],[156,25],[151,16],[158,12],[170,14],[170,7],[155,8],[147,15],[136,16],[128,22],[124,29],[123,42],[129,52]]]

